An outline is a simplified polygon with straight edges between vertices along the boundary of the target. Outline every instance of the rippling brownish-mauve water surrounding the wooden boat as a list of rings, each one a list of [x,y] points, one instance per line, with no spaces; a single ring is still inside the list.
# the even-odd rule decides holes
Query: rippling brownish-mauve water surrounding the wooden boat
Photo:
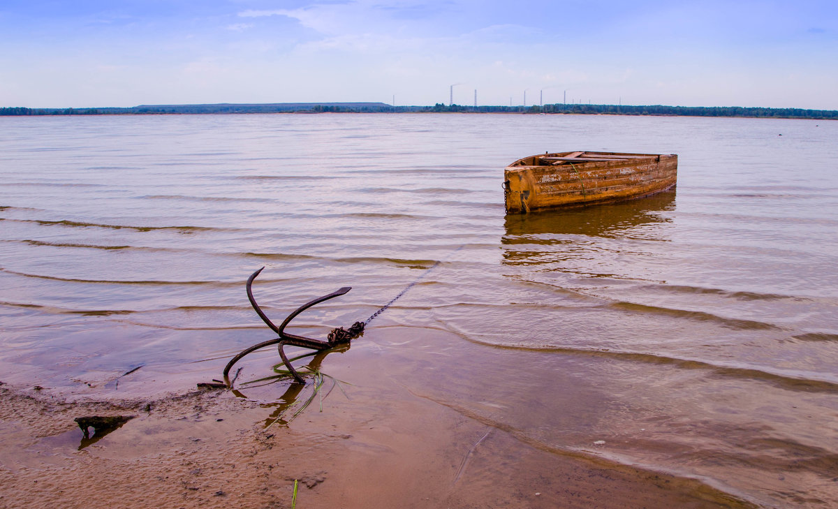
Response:
[[[761,119],[3,117],[0,379],[99,397],[140,365],[147,393],[217,378],[270,338],[244,296],[262,265],[276,320],[353,286],[294,321],[313,337],[415,283],[359,342],[422,396],[546,450],[835,506],[836,139]],[[503,167],[565,150],[677,153],[678,186],[504,217]]]

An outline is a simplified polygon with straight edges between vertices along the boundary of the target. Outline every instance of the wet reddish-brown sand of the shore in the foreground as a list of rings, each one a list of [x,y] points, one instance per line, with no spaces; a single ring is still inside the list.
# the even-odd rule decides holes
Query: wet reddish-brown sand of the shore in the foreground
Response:
[[[4,384],[0,506],[290,507],[295,480],[300,508],[751,506],[696,480],[551,450],[438,404],[416,382],[437,380],[433,368],[394,362],[382,338],[396,329],[405,336],[391,328],[324,358],[346,396],[334,389],[322,411],[315,398],[287,425],[266,426],[287,382],[243,389],[249,399],[184,388],[153,400]],[[255,355],[245,374],[273,360]],[[120,387],[137,394],[135,384]],[[85,415],[135,417],[80,449],[73,419]]]

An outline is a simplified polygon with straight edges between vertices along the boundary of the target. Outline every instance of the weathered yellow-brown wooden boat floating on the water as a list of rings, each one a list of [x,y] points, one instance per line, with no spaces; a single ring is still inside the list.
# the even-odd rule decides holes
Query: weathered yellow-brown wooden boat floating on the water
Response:
[[[557,152],[524,157],[504,171],[507,213],[643,198],[675,186],[678,156]]]

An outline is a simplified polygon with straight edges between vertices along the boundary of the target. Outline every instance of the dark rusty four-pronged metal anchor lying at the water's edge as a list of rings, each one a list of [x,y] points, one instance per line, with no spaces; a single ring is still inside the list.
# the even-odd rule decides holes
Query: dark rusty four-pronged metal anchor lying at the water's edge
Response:
[[[352,290],[351,286],[344,286],[343,288],[339,288],[338,290],[333,291],[332,293],[318,297],[313,301],[308,301],[303,306],[297,308],[296,311],[293,311],[290,315],[288,315],[280,326],[274,325],[270,318],[265,315],[265,312],[261,310],[258,304],[256,304],[256,299],[253,298],[253,291],[251,290],[251,286],[253,285],[253,280],[256,279],[256,276],[264,270],[265,267],[262,267],[259,270],[256,270],[251,277],[247,278],[246,290],[247,290],[247,299],[251,301],[251,306],[253,306],[253,310],[256,311],[256,314],[265,322],[266,326],[269,326],[273,332],[277,333],[277,338],[272,339],[270,341],[261,342],[252,347],[246,348],[242,350],[238,355],[230,359],[230,362],[227,363],[227,366],[224,368],[224,381],[228,388],[232,387],[232,383],[230,382],[230,368],[233,367],[235,362],[238,362],[241,357],[245,357],[250,352],[255,352],[256,350],[262,347],[268,347],[270,345],[277,345],[277,349],[279,350],[279,357],[282,357],[282,363],[285,364],[285,367],[288,368],[288,371],[292,374],[294,380],[297,383],[305,383],[303,381],[303,377],[297,373],[297,370],[291,365],[291,362],[288,361],[288,357],[285,355],[283,351],[283,347],[292,346],[292,347],[303,347],[303,348],[310,348],[312,350],[324,351],[328,350],[329,348],[336,347],[341,344],[345,344],[350,342],[354,337],[360,336],[362,332],[364,332],[364,322],[356,321],[352,326],[349,327],[349,330],[344,329],[343,327],[338,327],[333,329],[332,332],[328,333],[328,341],[320,341],[317,339],[312,339],[310,337],[303,337],[297,336],[296,334],[289,334],[285,332],[285,327],[288,325],[288,322],[292,321],[292,319],[302,313],[303,311],[307,310],[309,307],[314,306],[315,304],[319,304],[323,301],[328,301],[329,299],[334,299],[334,297],[339,297],[346,294],[349,290]]]

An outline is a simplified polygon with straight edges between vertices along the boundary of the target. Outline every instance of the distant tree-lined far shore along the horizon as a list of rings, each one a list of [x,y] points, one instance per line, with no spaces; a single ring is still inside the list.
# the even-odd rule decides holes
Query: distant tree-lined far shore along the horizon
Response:
[[[2,107],[0,116],[65,115],[241,115],[254,113],[520,113],[547,115],[629,115],[629,116],[731,116],[744,118],[787,118],[838,120],[835,110],[800,108],[753,108],[741,106],[666,105],[583,105],[551,104],[532,106],[394,106],[380,102],[138,105],[129,108],[23,108]]]

